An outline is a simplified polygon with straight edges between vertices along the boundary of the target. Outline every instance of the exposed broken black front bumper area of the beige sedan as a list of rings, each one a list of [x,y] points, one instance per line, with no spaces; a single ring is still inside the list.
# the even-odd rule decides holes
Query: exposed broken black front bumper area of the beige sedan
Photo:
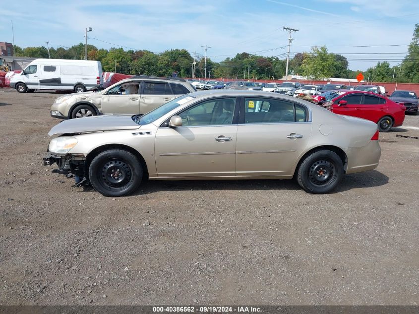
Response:
[[[54,169],[53,172],[65,175],[67,178],[74,177],[76,187],[89,184],[84,171],[84,162],[86,161],[84,155],[58,155],[48,152],[42,160],[44,166],[58,165],[58,169]]]

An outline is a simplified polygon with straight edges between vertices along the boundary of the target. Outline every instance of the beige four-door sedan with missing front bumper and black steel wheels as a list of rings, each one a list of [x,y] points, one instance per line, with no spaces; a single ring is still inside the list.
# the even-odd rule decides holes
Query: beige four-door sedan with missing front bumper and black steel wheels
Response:
[[[44,165],[105,196],[143,179],[291,179],[327,193],[343,175],[377,167],[377,125],[294,97],[208,90],[145,114],[63,121],[49,132]]]

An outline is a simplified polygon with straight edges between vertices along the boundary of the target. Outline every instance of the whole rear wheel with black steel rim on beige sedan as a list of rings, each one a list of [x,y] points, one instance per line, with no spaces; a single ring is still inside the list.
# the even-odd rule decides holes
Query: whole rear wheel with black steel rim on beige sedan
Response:
[[[328,193],[342,180],[342,159],[330,150],[314,151],[299,165],[297,182],[308,193]]]

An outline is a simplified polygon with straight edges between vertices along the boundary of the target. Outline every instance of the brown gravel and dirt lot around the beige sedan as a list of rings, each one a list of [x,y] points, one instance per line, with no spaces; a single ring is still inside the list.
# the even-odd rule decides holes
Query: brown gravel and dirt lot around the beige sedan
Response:
[[[147,182],[106,198],[42,166],[52,93],[0,90],[0,304],[419,304],[419,116],[376,171]]]

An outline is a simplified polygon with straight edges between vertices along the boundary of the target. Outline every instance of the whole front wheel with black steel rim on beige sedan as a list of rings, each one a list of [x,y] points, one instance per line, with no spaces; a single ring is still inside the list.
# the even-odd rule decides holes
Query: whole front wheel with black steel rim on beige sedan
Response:
[[[92,187],[104,196],[118,197],[135,191],[142,180],[143,169],[138,158],[121,149],[98,154],[89,167]]]

